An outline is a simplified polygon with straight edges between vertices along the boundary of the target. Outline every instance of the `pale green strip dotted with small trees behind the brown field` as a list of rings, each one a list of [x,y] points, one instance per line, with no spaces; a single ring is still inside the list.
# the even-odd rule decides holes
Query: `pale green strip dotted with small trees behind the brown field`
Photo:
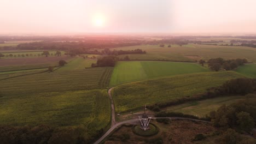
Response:
[[[48,51],[48,52],[50,53],[50,55],[48,57],[55,56],[56,51]],[[60,52],[61,52],[61,55],[64,55],[64,53],[65,53],[65,51],[60,51]],[[45,56],[41,55],[42,53],[43,53],[43,51],[2,52],[2,54],[4,55],[4,57],[2,57],[2,58],[5,59],[5,58],[45,57]],[[9,56],[10,54],[12,54],[13,57],[10,57]],[[24,57],[22,57],[22,55],[24,55]]]

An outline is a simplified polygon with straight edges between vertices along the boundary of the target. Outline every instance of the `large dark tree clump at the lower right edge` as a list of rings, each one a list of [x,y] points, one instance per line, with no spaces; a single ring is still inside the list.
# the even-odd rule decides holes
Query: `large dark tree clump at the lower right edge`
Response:
[[[251,94],[245,100],[240,100],[229,106],[223,105],[218,110],[211,111],[212,123],[216,127],[236,128],[250,132],[256,122],[255,97],[256,95]]]

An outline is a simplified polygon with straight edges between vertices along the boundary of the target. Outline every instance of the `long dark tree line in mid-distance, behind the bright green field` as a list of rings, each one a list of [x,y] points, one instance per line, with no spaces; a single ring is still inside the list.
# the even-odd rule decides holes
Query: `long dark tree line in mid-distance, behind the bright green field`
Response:
[[[143,53],[146,53],[146,51],[143,51],[141,49],[135,49],[135,50],[113,50],[113,51],[110,51],[109,49],[104,49],[101,54],[106,54],[106,55],[115,55],[115,56],[118,56],[118,55],[127,55],[127,54],[143,54]]]

